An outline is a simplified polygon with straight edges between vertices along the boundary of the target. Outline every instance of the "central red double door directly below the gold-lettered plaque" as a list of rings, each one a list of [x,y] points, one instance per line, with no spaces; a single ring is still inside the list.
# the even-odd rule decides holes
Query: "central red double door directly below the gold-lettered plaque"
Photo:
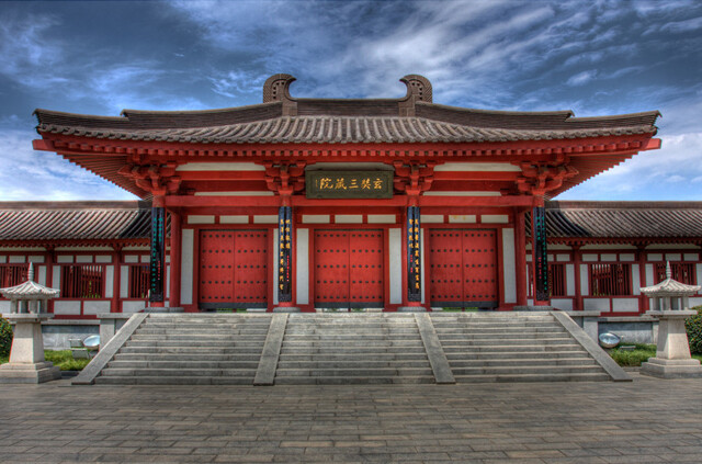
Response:
[[[383,307],[382,230],[315,233],[315,306]]]

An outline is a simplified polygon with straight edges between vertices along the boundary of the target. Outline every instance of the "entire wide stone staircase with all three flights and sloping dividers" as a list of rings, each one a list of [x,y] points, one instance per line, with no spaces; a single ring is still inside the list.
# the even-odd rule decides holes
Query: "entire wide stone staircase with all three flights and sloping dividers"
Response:
[[[138,314],[72,383],[631,381],[559,313]]]

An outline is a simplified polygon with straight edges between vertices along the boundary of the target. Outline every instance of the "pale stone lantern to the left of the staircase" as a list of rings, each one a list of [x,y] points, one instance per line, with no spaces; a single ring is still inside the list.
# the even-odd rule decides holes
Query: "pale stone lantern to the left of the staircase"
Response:
[[[27,281],[9,288],[0,288],[10,299],[10,314],[5,319],[14,322],[14,338],[10,350],[10,362],[0,365],[0,384],[41,384],[59,380],[61,372],[44,360],[42,321],[54,317],[47,304],[60,291],[34,282],[34,268],[30,263]]]

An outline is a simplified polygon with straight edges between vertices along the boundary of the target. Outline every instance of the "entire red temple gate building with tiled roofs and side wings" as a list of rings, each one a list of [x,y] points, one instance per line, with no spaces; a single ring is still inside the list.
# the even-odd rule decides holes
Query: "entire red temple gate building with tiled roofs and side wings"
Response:
[[[296,99],[293,81],[224,110],[36,110],[35,149],[143,201],[0,204],[0,286],[34,262],[61,290],[57,318],[147,304],[634,316],[666,260],[702,280],[702,203],[550,201],[659,148],[656,111],[445,106],[416,75],[401,99]]]

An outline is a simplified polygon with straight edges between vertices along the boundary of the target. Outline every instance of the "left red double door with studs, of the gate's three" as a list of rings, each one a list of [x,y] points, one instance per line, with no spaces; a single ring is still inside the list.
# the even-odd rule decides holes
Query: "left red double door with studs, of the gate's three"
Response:
[[[268,306],[268,231],[200,233],[200,307]]]

